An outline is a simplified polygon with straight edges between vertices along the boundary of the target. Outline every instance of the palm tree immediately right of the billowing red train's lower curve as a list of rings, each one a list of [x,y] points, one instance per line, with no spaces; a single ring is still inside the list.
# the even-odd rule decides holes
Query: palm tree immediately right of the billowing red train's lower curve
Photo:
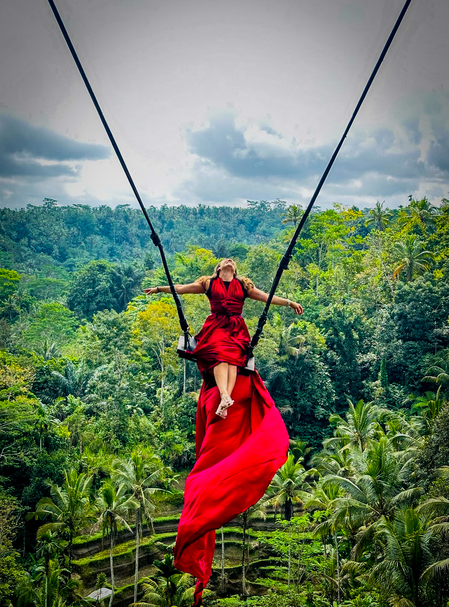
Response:
[[[301,498],[308,495],[310,486],[306,483],[307,476],[316,472],[314,469],[306,470],[302,459],[295,461],[293,453],[289,453],[286,463],[273,477],[268,489],[270,502],[275,509],[284,506],[284,518],[287,521],[293,517],[293,503],[302,504]]]

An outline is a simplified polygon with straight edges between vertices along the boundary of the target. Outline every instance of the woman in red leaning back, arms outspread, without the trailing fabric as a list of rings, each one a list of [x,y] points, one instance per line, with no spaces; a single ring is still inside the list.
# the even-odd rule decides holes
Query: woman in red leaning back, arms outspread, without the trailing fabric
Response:
[[[250,344],[250,335],[241,316],[244,300],[250,297],[266,302],[268,294],[259,291],[251,280],[238,277],[232,259],[223,259],[212,276],[202,276],[190,285],[175,285],[175,288],[179,294],[205,293],[210,299],[211,314],[195,336],[194,356],[203,376],[213,372],[221,396],[216,415],[225,418],[227,408],[234,402],[231,395],[238,369],[245,367]],[[170,293],[170,287],[153,287],[145,289],[145,293]],[[303,313],[300,304],[283,297],[274,296],[272,304],[289,306],[295,314]]]

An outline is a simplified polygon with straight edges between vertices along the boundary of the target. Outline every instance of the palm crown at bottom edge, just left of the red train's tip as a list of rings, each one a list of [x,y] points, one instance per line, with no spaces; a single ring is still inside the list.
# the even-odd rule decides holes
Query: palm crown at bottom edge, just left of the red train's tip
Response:
[[[132,607],[189,607],[195,591],[194,578],[178,571],[169,554],[163,561],[155,560],[153,565],[159,569],[156,581],[147,578],[143,584],[145,600],[134,602]]]

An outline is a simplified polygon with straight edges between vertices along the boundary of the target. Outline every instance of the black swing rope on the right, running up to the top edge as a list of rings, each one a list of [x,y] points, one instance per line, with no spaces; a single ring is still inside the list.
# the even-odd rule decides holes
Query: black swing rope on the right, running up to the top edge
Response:
[[[304,223],[306,223],[306,219],[307,219],[307,217],[309,217],[310,211],[312,211],[312,206],[314,206],[315,200],[317,200],[318,194],[320,193],[320,190],[323,187],[323,183],[324,183],[324,181],[326,181],[326,177],[329,174],[329,171],[331,170],[332,164],[334,164],[335,158],[337,158],[338,152],[340,152],[340,148],[343,145],[343,141],[346,139],[346,135],[348,135],[349,129],[351,128],[352,123],[354,122],[355,117],[357,116],[358,110],[360,109],[360,106],[362,106],[363,100],[365,100],[366,93],[368,93],[369,87],[371,86],[372,81],[374,80],[375,75],[377,74],[377,72],[379,70],[380,64],[382,63],[383,59],[385,58],[385,55],[391,45],[391,42],[393,41],[393,38],[396,35],[397,29],[399,28],[399,25],[401,24],[402,19],[403,19],[405,13],[407,12],[407,8],[409,7],[410,2],[411,2],[411,0],[406,0],[405,4],[403,5],[402,11],[400,12],[399,17],[397,18],[397,21],[394,24],[394,27],[391,30],[390,35],[388,36],[388,40],[386,41],[385,46],[383,47],[382,53],[380,53],[380,57],[379,57],[379,59],[377,59],[377,63],[374,66],[374,70],[372,70],[371,76],[369,76],[368,83],[366,83],[365,89],[363,89],[362,96],[358,100],[357,106],[355,106],[354,113],[352,114],[351,120],[349,120],[348,126],[346,127],[346,129],[343,133],[343,137],[341,137],[337,148],[335,148],[335,152],[334,152],[334,154],[332,154],[332,158],[331,158],[331,160],[329,160],[329,164],[327,164],[327,166],[326,166],[326,170],[324,171],[323,177],[321,177],[320,183],[318,183],[317,189],[315,190],[314,195],[312,196],[312,199],[309,202],[309,206],[307,206],[306,211],[304,211],[304,215],[303,215],[303,217],[301,217],[301,221],[295,230],[295,234],[293,234],[293,238],[292,238],[292,240],[290,240],[289,247],[287,248],[287,251],[285,252],[283,258],[281,259],[281,263],[279,263],[279,268],[278,268],[278,271],[276,272],[275,279],[273,280],[273,284],[272,284],[272,287],[271,287],[271,290],[270,290],[270,293],[269,293],[269,296],[267,299],[267,303],[265,304],[264,311],[262,312],[262,314],[259,318],[256,332],[253,335],[250,346],[248,348],[247,362],[251,358],[253,350],[259,342],[259,337],[261,336],[264,325],[267,322],[268,310],[270,308],[270,304],[272,302],[276,288],[278,287],[279,280],[281,280],[283,271],[288,269],[290,259],[292,259],[293,248],[295,248],[296,240],[298,240],[298,236],[300,236],[301,229],[303,229]]]

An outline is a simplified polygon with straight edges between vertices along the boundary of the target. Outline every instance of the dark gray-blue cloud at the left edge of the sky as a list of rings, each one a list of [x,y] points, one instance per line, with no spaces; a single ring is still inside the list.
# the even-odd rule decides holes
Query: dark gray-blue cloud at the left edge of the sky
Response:
[[[75,169],[64,164],[67,161],[108,157],[109,150],[105,146],[81,143],[24,120],[0,116],[0,177],[74,176]]]

